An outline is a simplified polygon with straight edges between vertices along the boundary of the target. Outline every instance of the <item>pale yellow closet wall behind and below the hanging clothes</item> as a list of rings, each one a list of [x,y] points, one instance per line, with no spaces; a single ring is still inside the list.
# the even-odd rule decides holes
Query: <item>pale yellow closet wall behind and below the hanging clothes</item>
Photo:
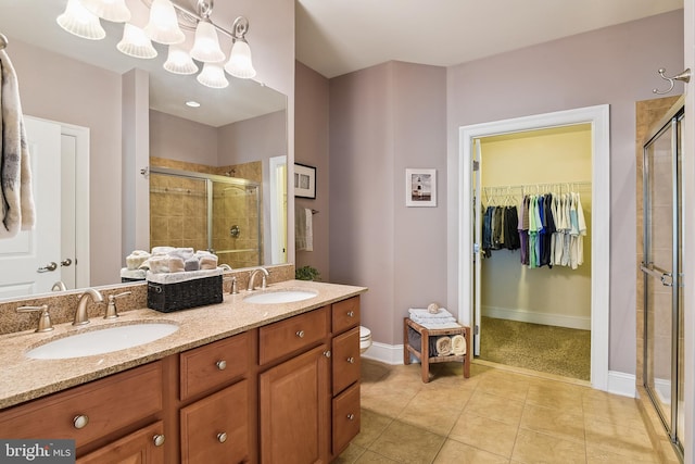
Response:
[[[583,124],[533,130],[481,141],[482,186],[560,184],[552,192],[567,192],[561,183],[591,181],[592,131]],[[544,193],[541,189],[539,192]],[[482,314],[572,328],[591,327],[591,185],[577,187],[589,234],[584,237],[584,264],[529,268],[520,264],[519,251],[496,250],[482,260]],[[505,193],[506,195],[506,193]],[[514,201],[521,191],[513,191]],[[486,198],[484,205],[504,204],[504,196]],[[484,327],[483,327],[484,329]]]

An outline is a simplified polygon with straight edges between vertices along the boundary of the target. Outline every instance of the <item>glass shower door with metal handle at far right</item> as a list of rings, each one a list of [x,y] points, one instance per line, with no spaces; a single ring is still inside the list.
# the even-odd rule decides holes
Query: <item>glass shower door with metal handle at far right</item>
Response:
[[[683,111],[644,146],[644,386],[682,452],[683,304],[681,136]]]

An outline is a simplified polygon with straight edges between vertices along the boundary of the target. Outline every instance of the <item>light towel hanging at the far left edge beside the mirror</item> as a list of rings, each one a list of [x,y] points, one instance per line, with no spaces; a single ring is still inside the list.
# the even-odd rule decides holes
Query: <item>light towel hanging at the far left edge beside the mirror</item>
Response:
[[[4,50],[0,50],[0,238],[34,227],[35,208],[17,76]]]

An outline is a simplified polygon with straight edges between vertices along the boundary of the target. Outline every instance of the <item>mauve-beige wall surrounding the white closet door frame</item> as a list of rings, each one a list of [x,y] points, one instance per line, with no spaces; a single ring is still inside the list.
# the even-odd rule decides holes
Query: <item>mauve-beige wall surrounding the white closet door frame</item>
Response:
[[[469,124],[610,104],[609,369],[635,372],[634,102],[683,68],[683,11],[607,27],[447,71],[450,201],[457,203],[458,128]],[[680,87],[682,89],[682,87]],[[457,301],[458,214],[448,215],[448,301]],[[628,278],[630,276],[630,278]]]

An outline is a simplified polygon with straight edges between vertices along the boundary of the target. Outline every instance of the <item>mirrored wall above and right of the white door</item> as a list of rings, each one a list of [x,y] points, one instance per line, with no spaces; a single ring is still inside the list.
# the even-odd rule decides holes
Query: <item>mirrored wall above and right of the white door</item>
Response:
[[[91,283],[114,283],[123,259],[113,246],[121,242],[121,76],[18,40],[11,47],[24,113],[89,128]]]

